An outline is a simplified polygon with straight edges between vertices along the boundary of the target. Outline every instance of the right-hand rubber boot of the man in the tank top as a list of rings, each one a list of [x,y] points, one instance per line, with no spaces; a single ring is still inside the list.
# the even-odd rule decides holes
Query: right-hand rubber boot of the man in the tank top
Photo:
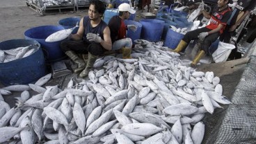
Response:
[[[88,53],[88,61],[86,64],[86,69],[83,69],[83,71],[80,73],[79,77],[80,78],[86,78],[88,76],[88,73],[90,72],[91,69],[93,69],[93,64],[97,60],[98,56],[97,55],[92,55]]]

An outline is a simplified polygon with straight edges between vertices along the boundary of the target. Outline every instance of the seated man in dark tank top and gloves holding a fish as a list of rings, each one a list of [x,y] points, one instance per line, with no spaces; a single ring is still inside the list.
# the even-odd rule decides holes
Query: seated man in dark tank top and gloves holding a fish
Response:
[[[105,10],[106,6],[102,1],[90,1],[88,16],[81,19],[77,33],[70,35],[72,40],[61,42],[63,52],[78,64],[74,73],[80,73],[80,78],[88,76],[98,55],[102,55],[106,50],[111,51],[109,26],[102,20]],[[81,59],[77,53],[88,53],[87,62],[85,62],[85,58]]]

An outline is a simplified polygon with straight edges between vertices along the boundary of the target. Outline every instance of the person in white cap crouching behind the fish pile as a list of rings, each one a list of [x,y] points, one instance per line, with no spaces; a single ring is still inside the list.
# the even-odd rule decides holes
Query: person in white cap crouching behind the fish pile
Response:
[[[128,28],[136,31],[135,25],[125,26],[125,19],[129,19],[131,14],[136,11],[131,9],[128,3],[122,3],[118,6],[118,15],[111,17],[109,20],[109,29],[111,31],[112,51],[122,49],[122,58],[131,58],[131,46],[132,41],[130,38],[126,37],[126,31]]]

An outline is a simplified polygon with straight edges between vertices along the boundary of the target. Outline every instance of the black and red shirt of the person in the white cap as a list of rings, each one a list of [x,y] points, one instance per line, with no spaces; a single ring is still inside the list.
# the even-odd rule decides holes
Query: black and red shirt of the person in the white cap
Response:
[[[109,29],[112,42],[126,37],[127,26],[125,26],[125,22],[118,15],[111,17],[109,20]]]

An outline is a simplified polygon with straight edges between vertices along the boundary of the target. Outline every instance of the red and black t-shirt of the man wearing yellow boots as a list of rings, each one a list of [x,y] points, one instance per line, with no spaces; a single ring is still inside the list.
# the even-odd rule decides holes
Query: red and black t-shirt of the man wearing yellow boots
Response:
[[[229,7],[225,8],[224,10],[219,11],[218,7],[215,7],[211,14],[210,24],[206,26],[210,30],[213,30],[218,27],[219,24],[223,25],[221,28],[220,33],[223,33],[225,26],[227,25],[227,20],[230,19],[231,9]]]

